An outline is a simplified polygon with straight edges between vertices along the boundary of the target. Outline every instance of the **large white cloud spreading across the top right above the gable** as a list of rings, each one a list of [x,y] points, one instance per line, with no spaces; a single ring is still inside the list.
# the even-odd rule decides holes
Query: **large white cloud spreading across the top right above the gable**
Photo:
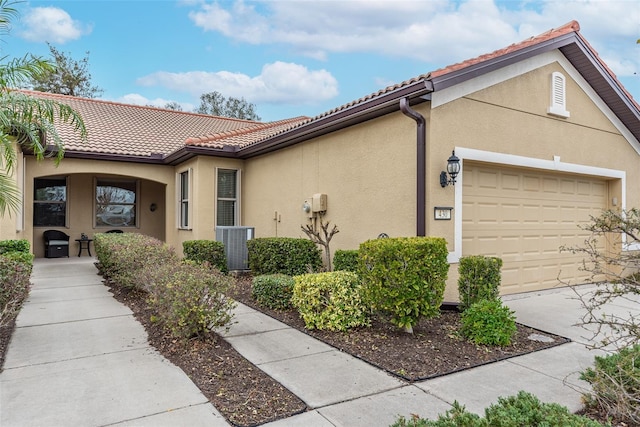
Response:
[[[640,65],[633,0],[434,0],[201,2],[194,24],[237,42],[277,44],[308,57],[376,53],[444,66],[578,20],[603,57],[624,52]],[[623,46],[624,45],[624,46]],[[635,49],[635,50],[633,50]],[[634,54],[635,52],[635,54]]]

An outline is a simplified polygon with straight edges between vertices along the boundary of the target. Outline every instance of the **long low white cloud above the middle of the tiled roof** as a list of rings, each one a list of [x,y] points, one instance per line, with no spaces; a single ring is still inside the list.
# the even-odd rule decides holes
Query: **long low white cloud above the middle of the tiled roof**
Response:
[[[314,103],[338,94],[338,83],[328,71],[309,70],[303,65],[286,62],[266,64],[255,77],[229,71],[158,71],[140,77],[137,83],[162,86],[193,96],[217,91],[251,103]]]

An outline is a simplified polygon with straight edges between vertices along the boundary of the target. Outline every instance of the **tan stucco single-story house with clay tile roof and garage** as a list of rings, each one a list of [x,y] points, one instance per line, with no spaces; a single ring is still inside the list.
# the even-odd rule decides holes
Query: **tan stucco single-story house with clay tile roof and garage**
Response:
[[[504,261],[502,293],[584,278],[563,245],[603,209],[640,206],[640,108],[577,22],[415,77],[315,118],[272,123],[32,93],[68,103],[59,167],[24,155],[23,211],[2,238],[78,238],[117,228],[178,251],[217,226],[304,237],[331,221],[332,249],[389,236],[441,236],[446,298],[465,255]],[[455,184],[441,172],[455,152]],[[310,218],[311,217],[311,218]],[[637,249],[627,245],[624,250]]]

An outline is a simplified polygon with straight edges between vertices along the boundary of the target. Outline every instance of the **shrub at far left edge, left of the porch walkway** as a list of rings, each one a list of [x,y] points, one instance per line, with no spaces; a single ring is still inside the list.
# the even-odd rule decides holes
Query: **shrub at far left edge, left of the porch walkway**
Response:
[[[29,295],[33,255],[7,252],[0,255],[0,326],[9,323]]]

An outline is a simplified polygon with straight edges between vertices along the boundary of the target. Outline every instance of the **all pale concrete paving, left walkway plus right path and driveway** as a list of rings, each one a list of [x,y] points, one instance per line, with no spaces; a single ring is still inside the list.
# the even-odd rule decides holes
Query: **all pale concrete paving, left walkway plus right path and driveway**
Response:
[[[0,374],[0,426],[228,425],[189,378],[149,347],[130,310],[111,297],[90,258],[38,259]],[[407,384],[246,306],[225,338],[310,410],[268,426],[388,426],[436,418],[454,400],[482,413],[519,390],[576,411],[578,373],[595,352],[573,326],[580,304],[561,289],[504,298],[518,321],[573,342]],[[638,314],[629,302],[613,310]]]

